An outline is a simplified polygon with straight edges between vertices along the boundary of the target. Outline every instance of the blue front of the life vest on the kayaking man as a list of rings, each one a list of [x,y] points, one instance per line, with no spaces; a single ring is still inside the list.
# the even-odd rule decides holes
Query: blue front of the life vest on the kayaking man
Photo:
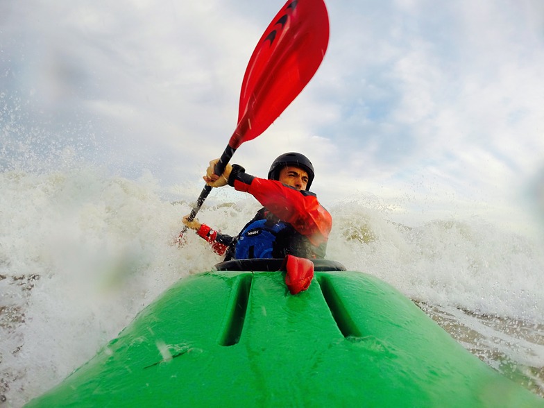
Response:
[[[253,221],[239,235],[235,259],[272,258],[278,233],[285,228],[287,224],[283,221],[278,223],[267,219]]]

